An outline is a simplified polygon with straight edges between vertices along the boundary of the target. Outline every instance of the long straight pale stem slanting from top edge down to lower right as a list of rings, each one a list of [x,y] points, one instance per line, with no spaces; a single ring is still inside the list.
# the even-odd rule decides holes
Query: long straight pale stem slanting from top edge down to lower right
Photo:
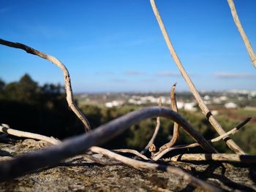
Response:
[[[170,42],[170,38],[168,37],[167,31],[165,29],[164,23],[162,23],[162,19],[159,15],[159,12],[157,10],[157,6],[154,2],[154,0],[150,0],[151,6],[154,11],[154,15],[157,18],[157,21],[159,23],[159,27],[161,28],[162,34],[165,38],[165,42],[167,44],[167,47],[170,50],[170,54],[173,57],[173,60],[175,61],[176,65],[178,66],[178,69],[180,70],[182,76],[184,77],[184,80],[187,82],[187,85],[189,85],[190,91],[195,96],[195,99],[197,100],[200,109],[203,111],[203,114],[206,115],[206,118],[210,121],[211,125],[215,128],[215,130],[218,132],[219,135],[225,134],[225,131],[223,130],[222,126],[219,125],[217,120],[215,120],[214,116],[211,114],[210,110],[208,110],[208,107],[206,107],[206,104],[203,102],[203,99],[200,97],[200,94],[198,93],[197,89],[195,88],[195,85],[193,84],[192,80],[190,80],[189,75],[187,74],[186,70],[184,69],[184,66],[182,66],[181,61],[178,58],[178,55],[176,54],[176,51],[173,48],[172,43]],[[229,137],[225,137],[225,142],[228,147],[230,147],[231,150],[233,150],[235,153],[238,154],[245,154],[243,150],[241,150],[238,145],[236,145],[235,142],[233,142],[232,139]]]

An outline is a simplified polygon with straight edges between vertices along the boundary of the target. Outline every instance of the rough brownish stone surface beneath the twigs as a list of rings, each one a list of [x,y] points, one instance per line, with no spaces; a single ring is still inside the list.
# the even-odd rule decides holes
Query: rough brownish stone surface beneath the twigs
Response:
[[[33,139],[0,142],[0,161],[28,151],[47,147]],[[225,170],[220,164],[189,164],[172,162],[173,166],[206,180],[227,191],[256,191],[256,169],[252,165],[233,166]],[[83,158],[71,164],[59,164],[51,169],[27,174],[0,183],[0,191],[201,191],[173,174],[161,171],[133,169],[128,166],[101,166]]]

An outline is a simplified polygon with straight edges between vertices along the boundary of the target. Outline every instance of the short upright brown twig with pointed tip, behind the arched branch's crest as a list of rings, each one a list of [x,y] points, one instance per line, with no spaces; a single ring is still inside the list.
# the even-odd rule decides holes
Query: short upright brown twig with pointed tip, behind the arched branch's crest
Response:
[[[177,102],[176,102],[176,93],[175,93],[176,83],[173,85],[171,91],[170,91],[170,107],[173,111],[178,112]],[[178,123],[174,122],[173,125],[173,137],[170,140],[170,142],[167,142],[165,145],[162,145],[160,147],[159,152],[162,152],[163,150],[172,147],[179,137],[179,125]]]

